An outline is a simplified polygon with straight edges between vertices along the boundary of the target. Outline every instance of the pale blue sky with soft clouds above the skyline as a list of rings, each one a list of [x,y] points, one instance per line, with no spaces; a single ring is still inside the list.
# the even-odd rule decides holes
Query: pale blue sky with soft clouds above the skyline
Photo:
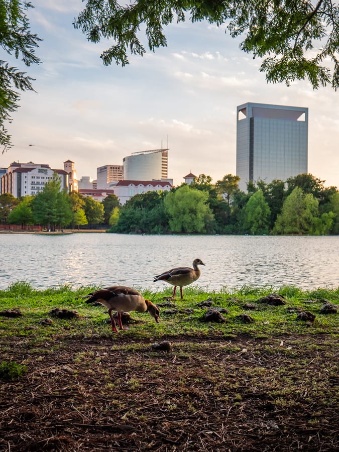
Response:
[[[339,187],[339,92],[330,86],[267,83],[261,61],[240,50],[241,40],[207,22],[169,25],[167,47],[106,67],[100,54],[111,43],[89,43],[72,25],[81,0],[32,4],[42,63],[26,67],[4,50],[0,56],[36,79],[36,92],[23,93],[12,115],[13,147],[0,154],[0,167],[33,161],[62,169],[70,159],[78,179],[96,179],[99,166],[168,146],[175,185],[190,172],[216,182],[236,174],[237,105],[259,102],[308,107],[308,172]]]

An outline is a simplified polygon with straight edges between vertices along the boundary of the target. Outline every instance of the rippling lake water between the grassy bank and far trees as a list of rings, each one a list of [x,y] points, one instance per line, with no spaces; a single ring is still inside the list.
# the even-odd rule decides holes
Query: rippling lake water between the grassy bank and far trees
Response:
[[[196,285],[339,287],[339,236],[140,236],[0,234],[0,289],[16,281],[35,288],[60,284],[128,285],[162,291],[155,275],[200,258]]]

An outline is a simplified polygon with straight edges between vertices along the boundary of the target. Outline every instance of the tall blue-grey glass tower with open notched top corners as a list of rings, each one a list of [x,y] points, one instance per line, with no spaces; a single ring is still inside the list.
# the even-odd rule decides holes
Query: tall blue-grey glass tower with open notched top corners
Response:
[[[244,103],[237,107],[237,176],[249,181],[307,173],[308,108]]]

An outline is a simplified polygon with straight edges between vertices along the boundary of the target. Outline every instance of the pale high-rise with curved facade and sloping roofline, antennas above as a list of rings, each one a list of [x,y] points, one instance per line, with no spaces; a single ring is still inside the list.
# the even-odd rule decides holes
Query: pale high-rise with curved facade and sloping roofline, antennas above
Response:
[[[168,148],[133,152],[124,157],[124,180],[164,180],[168,178]]]

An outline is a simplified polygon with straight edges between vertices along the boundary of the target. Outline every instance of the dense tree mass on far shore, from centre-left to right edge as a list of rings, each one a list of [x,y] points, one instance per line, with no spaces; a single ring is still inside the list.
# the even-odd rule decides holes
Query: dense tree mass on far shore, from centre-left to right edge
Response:
[[[200,174],[170,192],[135,195],[109,232],[143,234],[339,234],[339,192],[300,174],[287,181],[249,183]]]

